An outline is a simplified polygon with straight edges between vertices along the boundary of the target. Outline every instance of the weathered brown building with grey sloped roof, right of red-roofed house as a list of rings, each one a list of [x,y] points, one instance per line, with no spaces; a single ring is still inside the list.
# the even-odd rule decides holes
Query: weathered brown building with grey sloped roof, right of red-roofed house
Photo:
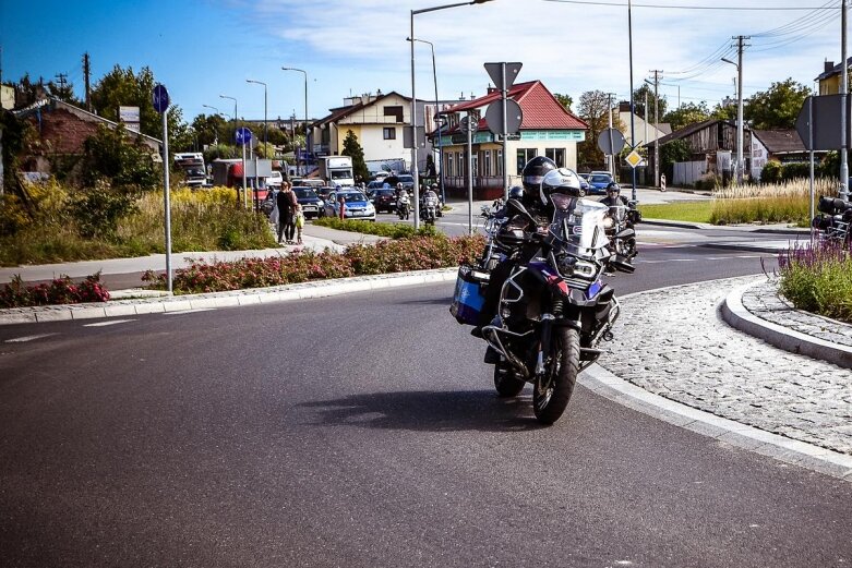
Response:
[[[736,124],[734,121],[705,120],[686,125],[651,142],[648,144],[650,170],[653,170],[655,145],[659,144],[662,150],[667,144],[674,141],[683,141],[688,147],[691,156],[687,161],[674,164],[673,170],[669,172],[663,169],[663,164],[660,165],[660,171],[669,177],[669,182],[672,185],[692,185],[705,177],[713,176],[729,179],[733,174],[733,164],[736,158]],[[752,147],[752,131],[749,129],[743,130],[743,147]],[[743,158],[745,172],[748,172],[752,168],[749,153],[744,152]]]

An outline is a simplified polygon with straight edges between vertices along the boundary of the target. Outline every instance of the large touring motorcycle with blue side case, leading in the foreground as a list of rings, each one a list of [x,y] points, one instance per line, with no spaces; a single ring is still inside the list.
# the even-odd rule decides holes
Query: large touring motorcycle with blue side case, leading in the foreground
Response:
[[[605,205],[560,193],[551,200],[555,210],[547,228],[539,228],[519,201],[507,202],[509,220],[496,240],[512,265],[497,314],[481,328],[497,392],[514,397],[531,383],[533,412],[543,424],[559,420],[579,372],[601,355],[601,340],[613,339],[620,307],[601,280],[604,273],[633,271],[608,247]],[[459,323],[476,325],[485,286],[496,282],[481,267],[459,268],[449,309]]]

